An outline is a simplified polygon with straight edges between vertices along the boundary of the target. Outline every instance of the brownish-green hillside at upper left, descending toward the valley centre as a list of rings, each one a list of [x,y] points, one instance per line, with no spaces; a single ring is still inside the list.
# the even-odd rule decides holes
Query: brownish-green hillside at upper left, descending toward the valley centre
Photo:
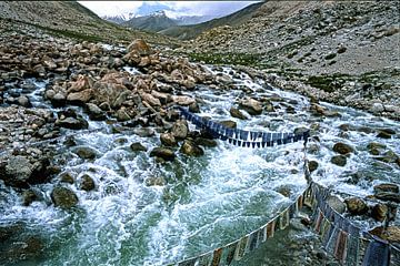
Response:
[[[1,1],[0,20],[33,25],[51,34],[110,43],[142,38],[151,43],[168,44],[170,39],[126,29],[100,19],[73,1]]]

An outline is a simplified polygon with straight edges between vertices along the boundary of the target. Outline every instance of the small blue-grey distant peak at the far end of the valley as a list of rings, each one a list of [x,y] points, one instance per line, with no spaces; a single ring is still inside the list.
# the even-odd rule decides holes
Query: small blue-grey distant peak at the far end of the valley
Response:
[[[121,23],[133,29],[158,32],[177,25],[177,22],[166,16],[163,11],[150,16],[137,17]]]

